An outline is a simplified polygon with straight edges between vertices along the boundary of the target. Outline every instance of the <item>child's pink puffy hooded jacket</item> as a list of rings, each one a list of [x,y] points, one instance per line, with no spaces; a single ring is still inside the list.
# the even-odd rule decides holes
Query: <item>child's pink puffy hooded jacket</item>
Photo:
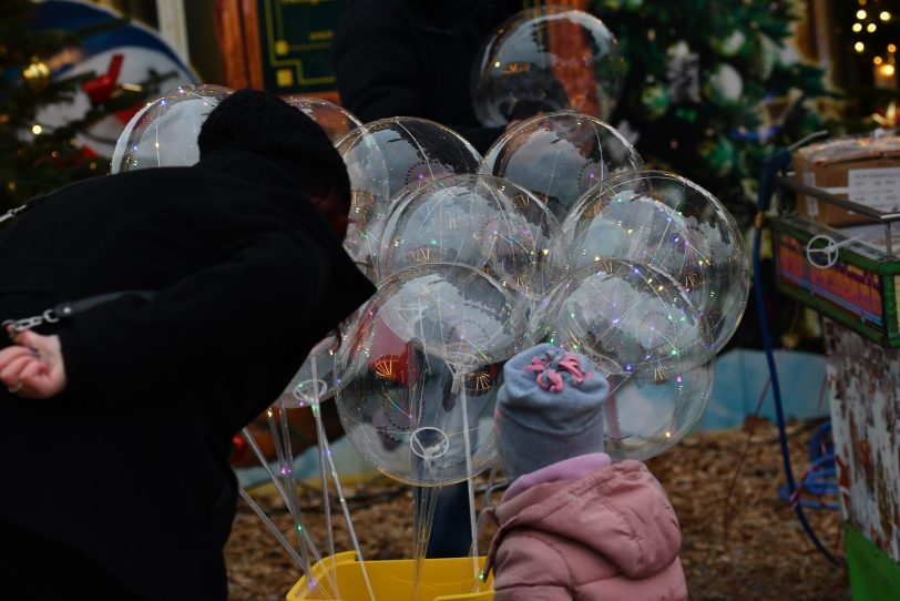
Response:
[[[596,458],[605,467],[593,469]],[[561,461],[517,480],[490,511],[495,601],[687,599],[678,520],[640,461]]]

